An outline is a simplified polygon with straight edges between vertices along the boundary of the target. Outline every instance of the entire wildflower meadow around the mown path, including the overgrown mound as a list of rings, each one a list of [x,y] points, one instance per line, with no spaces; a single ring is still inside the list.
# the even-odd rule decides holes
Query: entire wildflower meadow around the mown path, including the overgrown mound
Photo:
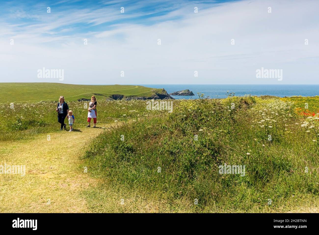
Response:
[[[80,193],[91,212],[318,207],[318,97],[202,97],[174,100],[172,113],[146,110],[141,100],[98,99],[98,126],[121,124],[89,140],[80,154],[78,167],[100,180]],[[83,129],[85,102],[68,103],[74,128]],[[2,104],[0,140],[58,132],[55,107],[50,101]],[[221,173],[225,164],[245,166],[244,175]]]

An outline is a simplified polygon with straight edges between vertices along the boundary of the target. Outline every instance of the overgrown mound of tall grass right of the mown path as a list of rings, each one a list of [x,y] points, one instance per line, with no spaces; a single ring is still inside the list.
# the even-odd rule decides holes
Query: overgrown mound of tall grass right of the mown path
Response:
[[[174,105],[171,114],[101,134],[84,156],[90,172],[173,211],[177,201],[194,211],[276,210],[318,196],[316,136],[292,102],[247,96]],[[245,176],[219,174],[225,163],[244,165]]]

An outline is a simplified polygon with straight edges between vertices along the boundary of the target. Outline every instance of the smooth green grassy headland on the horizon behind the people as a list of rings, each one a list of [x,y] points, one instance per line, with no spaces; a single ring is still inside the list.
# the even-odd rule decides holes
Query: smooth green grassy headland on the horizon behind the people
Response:
[[[81,98],[106,98],[113,94],[125,97],[150,97],[161,89],[132,85],[73,85],[49,82],[5,82],[0,83],[0,103],[58,100],[63,95],[67,102]]]

